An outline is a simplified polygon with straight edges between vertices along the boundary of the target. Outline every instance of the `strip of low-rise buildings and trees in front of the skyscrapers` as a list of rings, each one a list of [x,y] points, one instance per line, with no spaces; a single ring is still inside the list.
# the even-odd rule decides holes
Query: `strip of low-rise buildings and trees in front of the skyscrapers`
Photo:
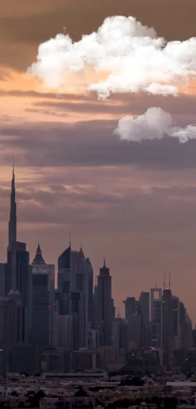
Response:
[[[39,409],[196,408],[195,379],[185,379],[182,374],[176,378],[167,375],[139,379],[108,378],[103,372],[99,379],[89,374],[85,380],[76,381],[73,375],[69,382],[67,374],[63,375],[50,379],[45,374],[10,376],[9,386],[0,385],[0,406]]]

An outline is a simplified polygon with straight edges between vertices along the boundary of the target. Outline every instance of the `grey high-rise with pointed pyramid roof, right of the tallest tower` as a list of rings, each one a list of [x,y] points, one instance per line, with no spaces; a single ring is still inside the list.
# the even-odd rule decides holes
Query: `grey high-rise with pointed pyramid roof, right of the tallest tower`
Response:
[[[36,345],[53,346],[56,344],[55,266],[45,263],[39,244],[32,268],[32,342]]]

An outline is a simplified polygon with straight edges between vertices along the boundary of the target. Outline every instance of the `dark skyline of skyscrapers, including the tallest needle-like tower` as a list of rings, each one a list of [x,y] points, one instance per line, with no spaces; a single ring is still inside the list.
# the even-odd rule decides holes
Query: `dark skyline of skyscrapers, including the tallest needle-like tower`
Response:
[[[46,263],[40,245],[31,262],[26,243],[17,241],[13,168],[7,260],[0,264],[0,374],[8,369],[156,371],[187,362],[196,335],[170,283],[141,292],[138,300],[126,298],[121,318],[105,259],[94,285],[89,258],[82,247],[72,250],[70,240],[57,267],[56,289],[55,266]]]

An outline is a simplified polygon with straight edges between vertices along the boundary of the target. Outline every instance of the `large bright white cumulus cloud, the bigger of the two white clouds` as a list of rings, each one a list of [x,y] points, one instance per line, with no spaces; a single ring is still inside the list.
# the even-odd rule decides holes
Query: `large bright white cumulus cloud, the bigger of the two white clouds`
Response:
[[[88,66],[105,76],[95,83],[89,79],[87,89],[99,98],[138,91],[177,95],[179,86],[196,78],[196,38],[166,43],[134,17],[108,17],[97,32],[77,42],[58,34],[41,43],[28,74],[42,78],[49,88],[62,89],[70,73],[84,72]]]

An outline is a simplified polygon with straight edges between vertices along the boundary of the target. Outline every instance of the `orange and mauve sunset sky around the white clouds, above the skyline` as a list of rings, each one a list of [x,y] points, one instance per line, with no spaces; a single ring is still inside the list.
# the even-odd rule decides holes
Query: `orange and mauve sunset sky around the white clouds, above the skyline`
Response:
[[[196,141],[120,141],[125,115],[158,106],[180,126],[196,123],[196,87],[178,97],[85,96],[86,72],[61,95],[26,75],[38,45],[60,32],[77,41],[108,16],[134,16],[166,40],[196,37],[195,0],[6,0],[0,4],[0,260],[8,242],[12,157],[18,240],[31,260],[40,242],[56,264],[82,244],[98,275],[106,257],[116,312],[122,301],[166,284],[196,322]]]

